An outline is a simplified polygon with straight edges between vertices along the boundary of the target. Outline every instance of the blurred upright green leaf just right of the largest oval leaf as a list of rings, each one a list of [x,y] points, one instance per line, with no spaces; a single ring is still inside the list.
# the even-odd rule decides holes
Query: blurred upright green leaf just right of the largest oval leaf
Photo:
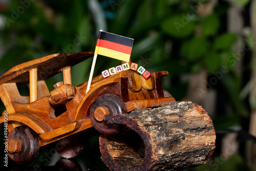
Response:
[[[211,14],[203,18],[202,31],[204,36],[215,34],[220,27],[220,21],[216,14]]]

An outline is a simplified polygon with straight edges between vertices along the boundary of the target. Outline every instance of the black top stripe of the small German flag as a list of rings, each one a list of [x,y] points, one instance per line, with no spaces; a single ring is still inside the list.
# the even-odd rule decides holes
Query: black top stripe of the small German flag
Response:
[[[98,39],[115,42],[117,44],[129,46],[129,47],[133,47],[133,41],[134,41],[133,38],[123,37],[117,34],[108,33],[104,31],[99,32]]]

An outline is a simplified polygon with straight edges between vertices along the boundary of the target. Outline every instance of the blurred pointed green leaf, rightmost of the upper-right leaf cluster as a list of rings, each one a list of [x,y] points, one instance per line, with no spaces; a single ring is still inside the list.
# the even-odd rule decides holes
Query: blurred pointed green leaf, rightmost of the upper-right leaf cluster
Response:
[[[214,47],[220,50],[229,50],[236,40],[236,34],[225,33],[215,39]]]

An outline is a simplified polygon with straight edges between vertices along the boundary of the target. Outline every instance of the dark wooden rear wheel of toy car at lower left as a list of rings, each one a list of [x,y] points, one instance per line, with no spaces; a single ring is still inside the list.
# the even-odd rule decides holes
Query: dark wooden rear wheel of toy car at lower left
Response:
[[[27,126],[18,126],[8,134],[8,156],[17,164],[31,163],[39,153],[39,140]]]

